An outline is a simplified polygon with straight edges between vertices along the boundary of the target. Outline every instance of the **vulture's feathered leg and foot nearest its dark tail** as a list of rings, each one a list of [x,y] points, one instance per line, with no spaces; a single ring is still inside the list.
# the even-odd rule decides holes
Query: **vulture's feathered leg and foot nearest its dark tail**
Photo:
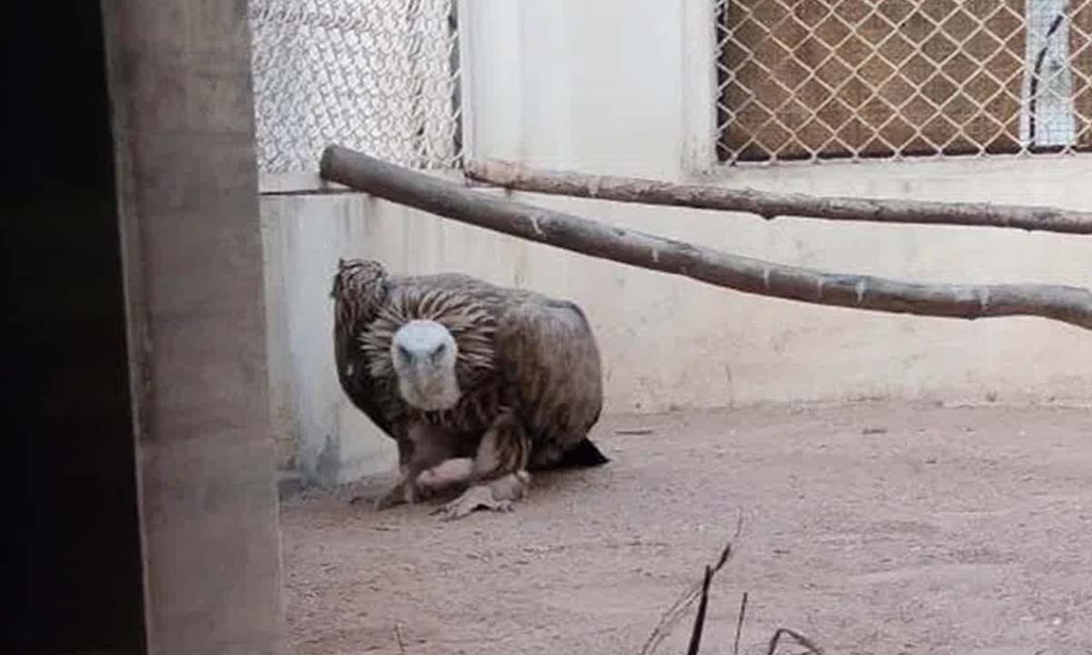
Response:
[[[511,511],[531,483],[526,472],[530,453],[531,442],[523,426],[514,416],[502,415],[482,437],[467,476],[470,488],[436,513],[450,521],[478,509]]]

